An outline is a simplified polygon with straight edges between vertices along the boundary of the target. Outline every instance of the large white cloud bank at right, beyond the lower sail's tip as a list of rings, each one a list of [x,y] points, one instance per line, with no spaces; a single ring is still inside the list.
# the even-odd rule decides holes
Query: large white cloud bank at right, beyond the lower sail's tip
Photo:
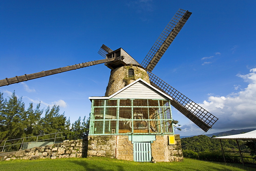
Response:
[[[213,125],[214,129],[256,127],[256,68],[251,69],[249,74],[237,76],[249,83],[247,88],[225,97],[210,96],[199,104],[219,118]]]

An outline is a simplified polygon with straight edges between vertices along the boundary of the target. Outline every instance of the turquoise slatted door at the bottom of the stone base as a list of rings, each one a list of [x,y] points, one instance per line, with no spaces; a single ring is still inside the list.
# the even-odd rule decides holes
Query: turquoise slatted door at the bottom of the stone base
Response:
[[[150,142],[133,143],[133,160],[135,162],[151,162]]]

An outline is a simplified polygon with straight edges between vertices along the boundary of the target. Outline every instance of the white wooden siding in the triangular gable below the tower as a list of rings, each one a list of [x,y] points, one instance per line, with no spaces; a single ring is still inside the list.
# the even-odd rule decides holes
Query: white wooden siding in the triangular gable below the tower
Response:
[[[145,83],[138,81],[132,86],[114,95],[114,99],[168,99],[163,94],[152,89]]]

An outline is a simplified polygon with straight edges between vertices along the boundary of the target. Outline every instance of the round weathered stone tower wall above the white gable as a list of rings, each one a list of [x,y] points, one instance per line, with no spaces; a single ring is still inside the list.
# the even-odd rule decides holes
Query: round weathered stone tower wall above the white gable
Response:
[[[128,70],[132,68],[134,70],[134,77],[128,77]],[[110,96],[118,90],[124,88],[128,84],[137,79],[143,79],[150,84],[147,71],[136,66],[123,66],[111,71],[109,77],[108,87],[106,88],[105,96]]]

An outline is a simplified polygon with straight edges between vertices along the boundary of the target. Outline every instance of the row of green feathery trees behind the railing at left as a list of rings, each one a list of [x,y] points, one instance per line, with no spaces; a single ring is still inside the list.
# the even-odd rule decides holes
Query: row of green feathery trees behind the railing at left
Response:
[[[8,100],[4,99],[3,93],[0,92],[0,146],[3,146],[5,140],[57,132],[84,129],[72,134],[79,134],[80,136],[88,134],[89,118],[86,118],[86,116],[83,120],[79,117],[71,124],[70,118],[67,119],[64,113],[59,113],[58,105],[48,106],[46,109],[40,109],[40,105],[38,103],[34,108],[34,104],[31,102],[29,107],[25,109],[22,97],[17,98],[15,91]],[[62,140],[70,139],[70,137],[67,137],[68,133],[62,133],[58,136],[63,136]],[[48,135],[40,138],[49,139],[51,137],[51,135]],[[36,141],[35,139],[36,137],[32,137],[30,141]],[[20,141],[22,140],[17,142]],[[12,143],[14,142],[8,142],[6,145]]]

